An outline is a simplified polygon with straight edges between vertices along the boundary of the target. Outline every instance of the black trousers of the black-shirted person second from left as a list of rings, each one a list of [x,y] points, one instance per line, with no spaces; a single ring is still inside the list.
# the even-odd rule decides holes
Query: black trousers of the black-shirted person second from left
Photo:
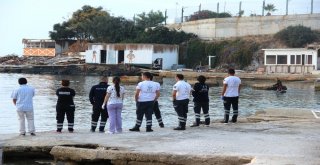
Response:
[[[61,131],[63,128],[64,117],[67,116],[68,130],[73,131],[74,126],[74,105],[71,106],[56,106],[56,120],[57,120],[57,131]]]

